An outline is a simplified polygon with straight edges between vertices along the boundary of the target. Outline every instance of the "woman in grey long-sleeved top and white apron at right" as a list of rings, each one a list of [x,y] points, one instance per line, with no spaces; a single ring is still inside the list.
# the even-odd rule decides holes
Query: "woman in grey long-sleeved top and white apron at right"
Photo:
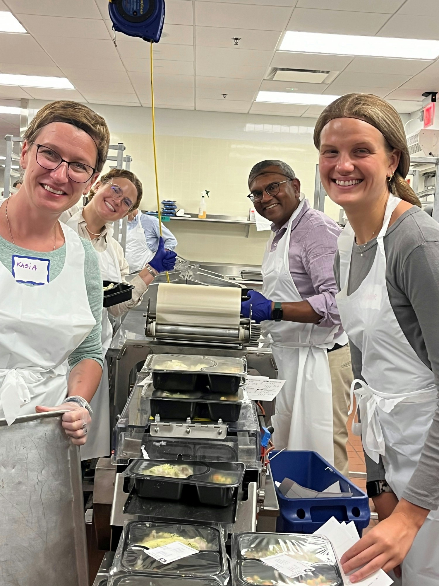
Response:
[[[348,94],[315,125],[323,186],[348,224],[336,295],[351,342],[368,494],[380,523],[345,553],[351,581],[402,564],[403,586],[439,584],[439,225],[405,181],[402,122]],[[400,574],[397,568],[396,574]]]

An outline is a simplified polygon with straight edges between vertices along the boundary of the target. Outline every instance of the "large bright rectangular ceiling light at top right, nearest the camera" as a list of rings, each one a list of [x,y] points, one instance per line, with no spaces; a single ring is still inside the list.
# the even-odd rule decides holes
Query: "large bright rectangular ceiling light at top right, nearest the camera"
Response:
[[[399,59],[436,59],[439,56],[439,40],[329,35],[288,30],[280,50]]]

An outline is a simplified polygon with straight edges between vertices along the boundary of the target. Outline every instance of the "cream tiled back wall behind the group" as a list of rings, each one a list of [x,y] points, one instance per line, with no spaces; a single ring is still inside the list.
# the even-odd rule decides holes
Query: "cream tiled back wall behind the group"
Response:
[[[29,104],[35,110],[41,105]],[[131,170],[143,183],[142,209],[156,210],[150,109],[91,106],[107,120],[111,141],[123,142],[133,158]],[[314,123],[315,118],[157,109],[160,200],[175,199],[179,207],[194,213],[207,189],[208,214],[247,216],[252,166],[263,159],[282,159],[296,172],[312,206],[317,163]],[[326,212],[338,219],[338,206],[330,200]],[[269,236],[251,227],[245,238],[245,226],[231,224],[171,220],[168,226],[179,241],[180,255],[197,261],[260,264]]]

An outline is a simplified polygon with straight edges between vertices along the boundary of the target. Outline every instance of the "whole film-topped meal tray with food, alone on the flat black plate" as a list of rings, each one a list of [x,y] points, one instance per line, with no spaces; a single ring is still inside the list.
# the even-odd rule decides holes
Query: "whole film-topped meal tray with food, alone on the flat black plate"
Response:
[[[136,460],[126,470],[136,492],[145,498],[179,500],[185,486],[195,486],[203,505],[227,507],[242,482],[238,462]]]

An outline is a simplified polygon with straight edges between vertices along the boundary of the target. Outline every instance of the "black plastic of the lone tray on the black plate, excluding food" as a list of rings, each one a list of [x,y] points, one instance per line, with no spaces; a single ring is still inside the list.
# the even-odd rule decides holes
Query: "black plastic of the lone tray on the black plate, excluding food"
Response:
[[[171,464],[188,466],[194,473],[187,478],[167,478],[166,476],[148,475],[139,472],[145,466],[169,464],[160,460],[136,460],[132,462],[126,474],[134,478],[136,492],[149,499],[180,500],[184,490],[191,488],[195,498],[203,505],[227,507],[231,504],[238,486],[242,482],[245,467],[238,462],[193,462],[178,459]],[[221,484],[212,481],[212,476],[229,476],[230,482]]]

